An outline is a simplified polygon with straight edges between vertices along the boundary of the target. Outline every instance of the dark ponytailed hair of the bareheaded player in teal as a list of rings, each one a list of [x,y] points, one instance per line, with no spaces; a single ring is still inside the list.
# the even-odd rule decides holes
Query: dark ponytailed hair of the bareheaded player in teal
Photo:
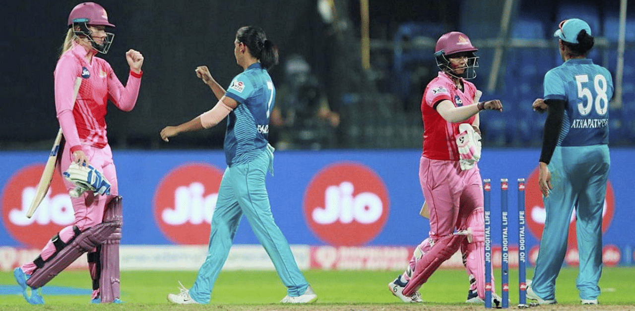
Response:
[[[236,39],[249,48],[251,56],[260,60],[263,68],[277,65],[277,47],[267,39],[262,29],[252,26],[241,27],[236,32]]]

